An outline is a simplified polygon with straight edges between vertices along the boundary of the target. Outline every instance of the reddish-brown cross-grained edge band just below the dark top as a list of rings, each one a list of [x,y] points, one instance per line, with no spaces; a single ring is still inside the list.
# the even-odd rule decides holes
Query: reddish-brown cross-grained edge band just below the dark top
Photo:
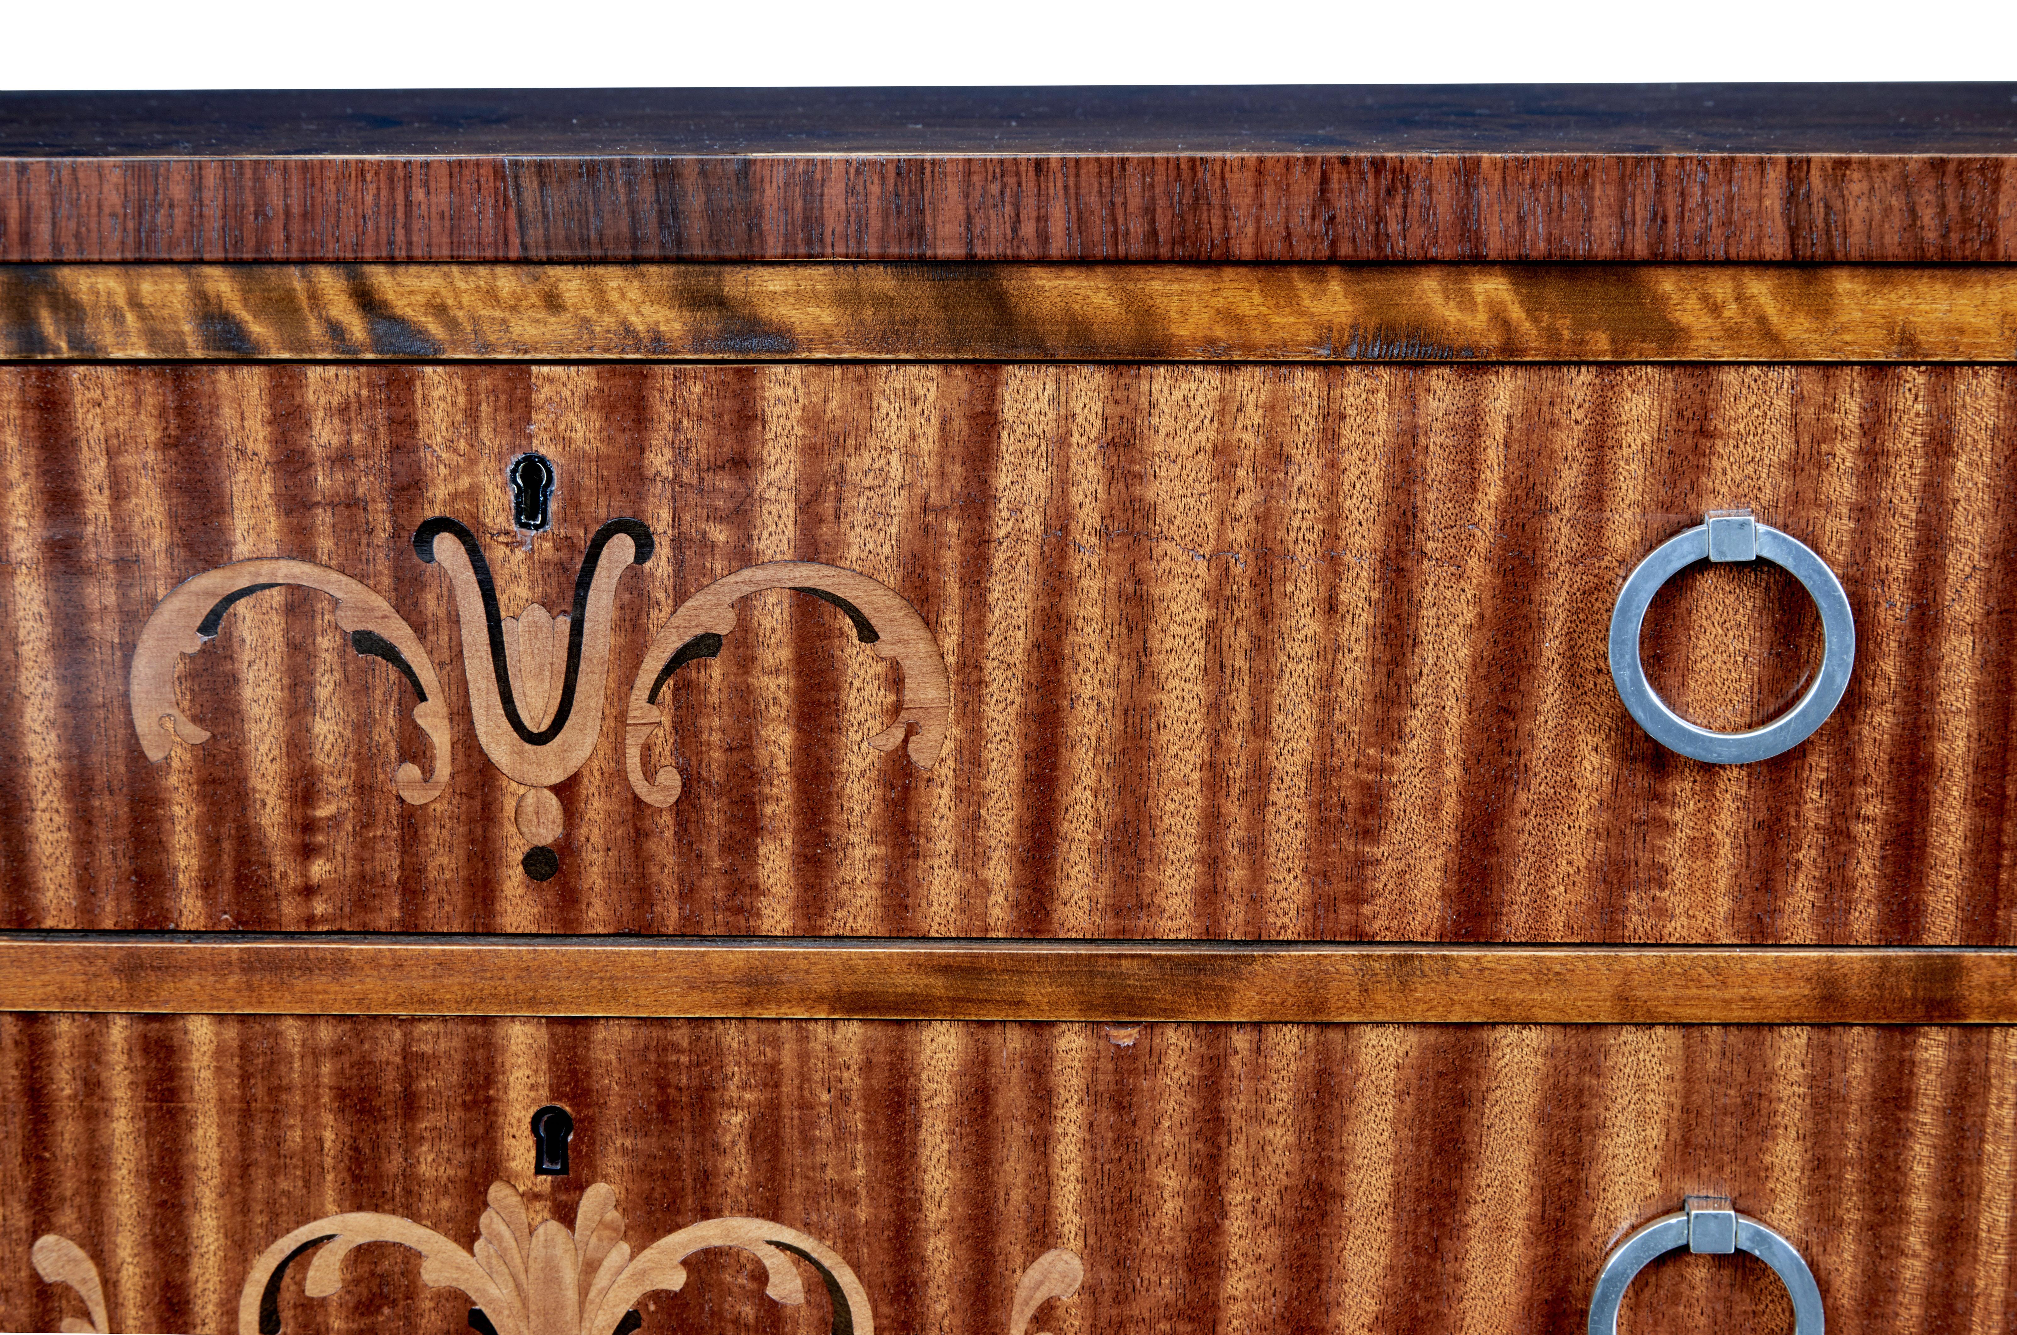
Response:
[[[2007,153],[12,157],[0,260],[2011,262]]]

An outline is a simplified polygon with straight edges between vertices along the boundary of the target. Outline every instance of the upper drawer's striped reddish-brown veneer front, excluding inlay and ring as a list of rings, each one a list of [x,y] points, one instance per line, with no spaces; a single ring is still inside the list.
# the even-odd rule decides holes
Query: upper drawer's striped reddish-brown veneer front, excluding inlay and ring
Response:
[[[0,920],[2011,944],[2013,430],[1995,367],[12,367]],[[539,534],[526,450],[557,468]],[[1606,629],[1632,565],[1731,504],[1833,565],[1858,661],[1809,742],[1714,768],[1632,724]],[[488,676],[470,698],[460,538],[416,557],[432,516],[504,615],[569,607],[591,534],[635,557],[571,776],[488,760],[516,742]],[[365,595],[264,591],[147,659],[145,700],[214,732],[149,762],[141,627],[254,557],[367,589],[440,700],[345,641]],[[819,597],[738,593],[775,583]],[[704,587],[740,629],[690,607],[647,663]],[[1815,641],[1789,579],[1721,567],[1646,653],[1731,728]]]

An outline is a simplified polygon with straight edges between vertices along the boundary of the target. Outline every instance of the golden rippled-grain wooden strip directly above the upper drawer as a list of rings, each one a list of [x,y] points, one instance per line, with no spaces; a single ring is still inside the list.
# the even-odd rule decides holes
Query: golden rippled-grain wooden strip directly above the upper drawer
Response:
[[[2017,361],[2017,264],[14,264],[14,361]]]

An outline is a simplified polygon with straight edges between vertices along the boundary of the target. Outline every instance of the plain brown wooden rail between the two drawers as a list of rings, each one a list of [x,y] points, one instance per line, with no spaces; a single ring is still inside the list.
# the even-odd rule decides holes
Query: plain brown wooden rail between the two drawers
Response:
[[[0,1010],[2011,1024],[2017,950],[10,934]]]

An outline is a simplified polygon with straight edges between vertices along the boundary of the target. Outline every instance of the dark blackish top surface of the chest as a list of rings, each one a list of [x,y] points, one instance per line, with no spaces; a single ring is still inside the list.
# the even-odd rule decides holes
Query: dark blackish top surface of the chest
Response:
[[[2017,83],[4,93],[0,157],[2017,153]]]

